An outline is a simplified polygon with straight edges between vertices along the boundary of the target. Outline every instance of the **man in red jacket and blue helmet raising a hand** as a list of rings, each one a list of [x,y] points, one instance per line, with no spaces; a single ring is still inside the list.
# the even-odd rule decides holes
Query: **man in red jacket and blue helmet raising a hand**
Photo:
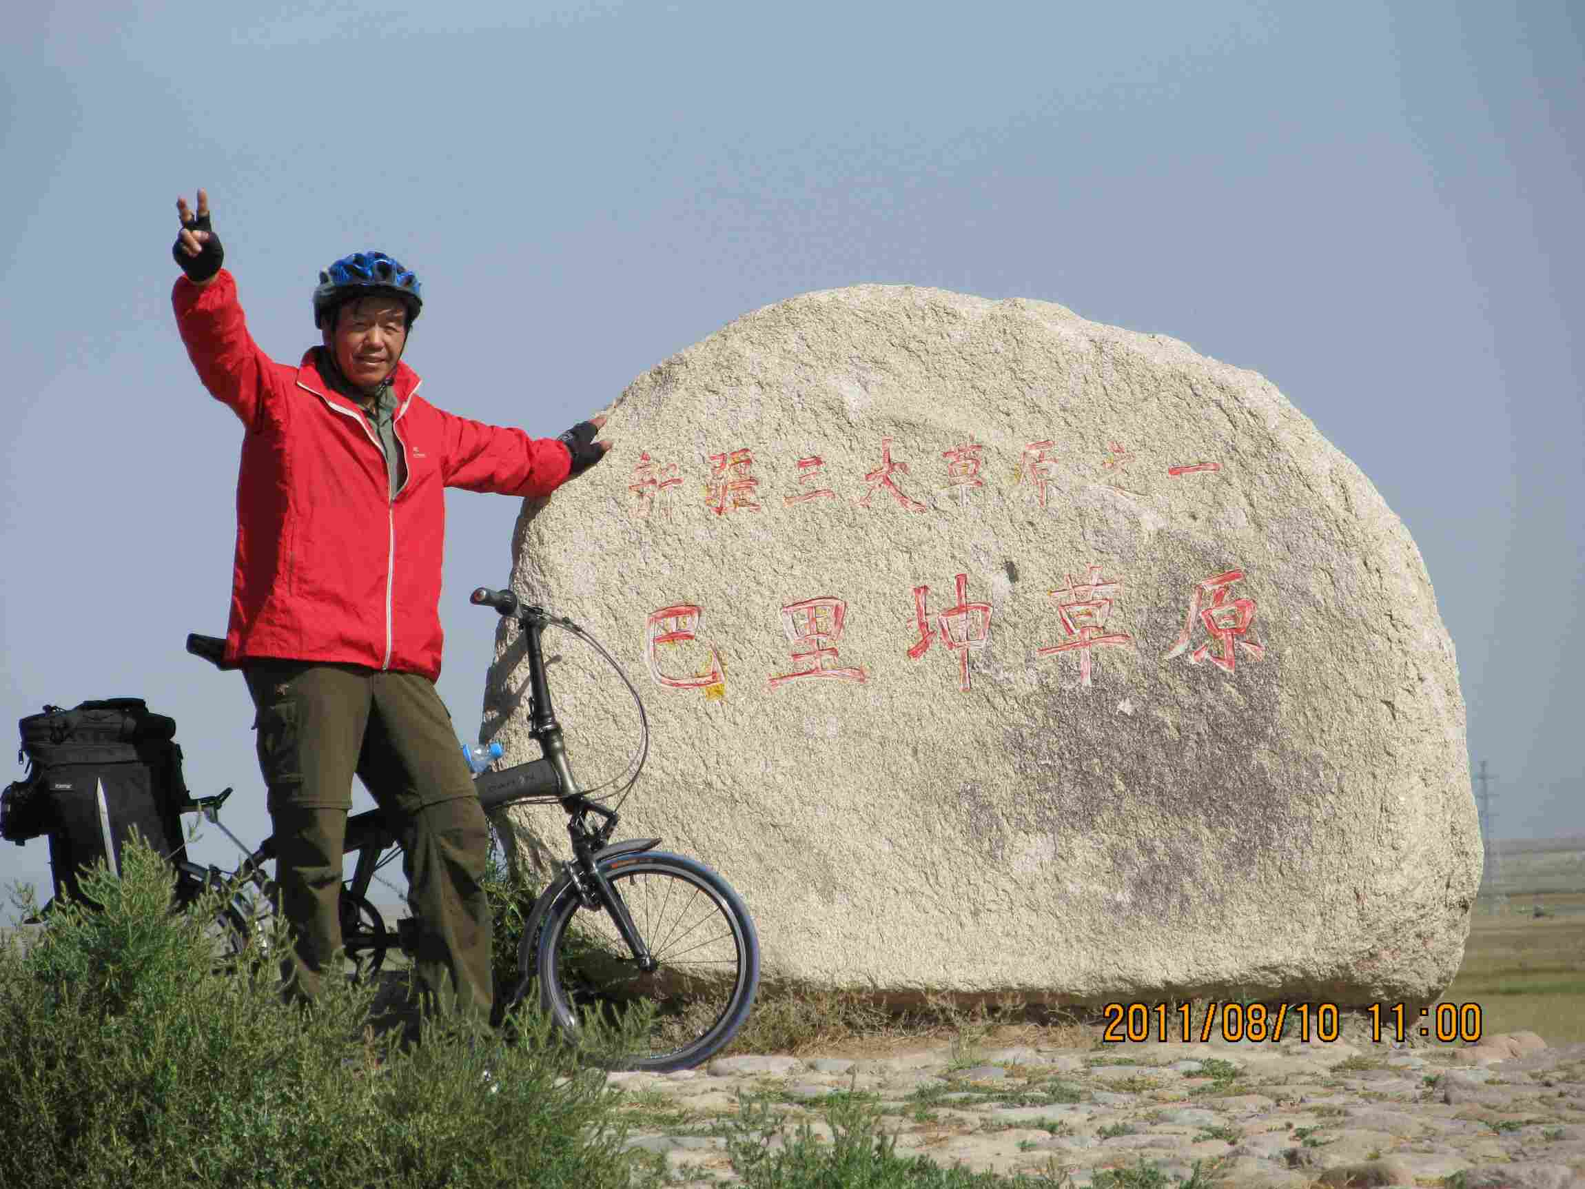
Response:
[[[295,932],[288,989],[312,999],[341,946],[341,859],[357,772],[401,832],[431,1007],[488,1018],[488,828],[441,671],[444,488],[545,496],[601,460],[604,417],[531,439],[436,409],[401,361],[418,277],[382,252],[320,273],[322,344],[298,366],[247,333],[209,198],[178,198],[171,293],[198,376],[243,422],[225,655],[258,710],[276,883]]]

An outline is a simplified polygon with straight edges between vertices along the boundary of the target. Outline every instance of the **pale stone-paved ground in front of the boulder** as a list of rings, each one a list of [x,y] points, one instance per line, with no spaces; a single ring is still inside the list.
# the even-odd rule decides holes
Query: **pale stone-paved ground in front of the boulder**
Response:
[[[1515,1043],[1525,1042],[1517,1038]],[[1503,1048],[1511,1053],[1514,1045]],[[1220,1056],[1225,1053],[1230,1049],[1222,1046],[1205,1056],[1228,1059]],[[1531,1073],[1556,1072],[1560,1049],[1531,1046],[1523,1057],[1507,1057],[1509,1062],[1550,1062],[1534,1070],[1444,1069],[1449,1056],[1468,1049],[1425,1053],[1431,1065],[1442,1070],[1436,1083],[1420,1086],[1423,1094],[1414,1099],[1385,1103],[1384,1088],[1392,1089],[1401,1080],[1350,1076],[1346,1084],[1352,1089],[1338,1089],[1336,1073],[1330,1070],[1338,1057],[1325,1049],[1292,1057],[1308,1062],[1309,1073],[1284,1067],[1282,1088],[1262,1084],[1263,1062],[1249,1056],[1246,1075],[1238,1083],[1255,1083],[1258,1092],[1197,1095],[1174,1105],[1163,1105],[1160,1091],[1121,1094],[1106,1088],[1121,1076],[1181,1084],[1178,1078],[1198,1070],[1087,1067],[1089,1054],[1078,1049],[1041,1053],[1038,1062],[1014,1062],[1003,1049],[995,1051],[1003,1064],[965,1070],[951,1069],[951,1049],[945,1045],[870,1062],[835,1056],[807,1061],[729,1057],[712,1062],[710,1076],[697,1072],[693,1078],[626,1073],[615,1075],[610,1084],[629,1094],[659,1089],[686,1113],[688,1124],[677,1135],[639,1134],[628,1140],[629,1148],[661,1154],[677,1184],[689,1178],[699,1178],[701,1186],[731,1183],[721,1135],[702,1132],[720,1130],[720,1119],[737,1108],[739,1094],[753,1097],[775,1091],[772,1110],[788,1116],[781,1137],[772,1141],[775,1148],[805,1122],[829,1140],[821,1099],[865,1078],[880,1089],[881,1129],[897,1135],[899,1153],[922,1154],[943,1167],[962,1164],[970,1172],[1002,1175],[1040,1173],[1046,1160],[1056,1160],[1068,1170],[1073,1189],[1092,1184],[1102,1168],[1133,1168],[1141,1160],[1154,1170],[1152,1176],[1165,1178],[1162,1184],[1189,1181],[1194,1164],[1200,1162],[1201,1175],[1225,1189],[1430,1187],[1457,1173],[1463,1173],[1465,1189],[1585,1189],[1585,1111],[1569,1111],[1564,1103],[1571,1099],[1558,1099],[1558,1089],[1530,1081]],[[1178,1053],[1155,1056],[1174,1067],[1205,1059]],[[1561,1064],[1582,1059],[1585,1048]],[[1024,1084],[1005,1065],[1049,1070],[1059,1061],[1070,1067],[1064,1084],[1086,1094],[1086,1102],[1013,1107],[989,1099],[992,1088]],[[859,1073],[865,1065],[883,1072]],[[840,1086],[834,1084],[837,1080]],[[973,1091],[964,1086],[965,1081],[991,1084]],[[1417,1078],[1415,1084],[1422,1081]],[[1027,1091],[1035,1094],[1049,1084],[1037,1078]],[[1206,1084],[1203,1078],[1200,1084]],[[919,1086],[948,1092],[943,1099],[921,1102],[911,1097]],[[1572,1089],[1569,1083],[1564,1092]],[[1449,1102],[1449,1094],[1460,1100]],[[1503,1102],[1461,1097],[1482,1094],[1501,1095]],[[1553,1097],[1539,1100],[1539,1094]],[[639,1121],[642,1114],[634,1118]]]

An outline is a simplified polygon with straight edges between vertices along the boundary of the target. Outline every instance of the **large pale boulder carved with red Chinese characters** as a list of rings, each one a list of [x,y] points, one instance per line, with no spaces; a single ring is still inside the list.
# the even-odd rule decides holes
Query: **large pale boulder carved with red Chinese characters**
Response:
[[[525,504],[512,582],[640,683],[621,834],[721,870],[767,978],[1358,1004],[1453,977],[1480,877],[1453,647],[1404,526],[1255,373],[859,285],[666,360],[604,436]],[[574,764],[615,774],[626,691],[552,652]],[[504,634],[512,761],[520,661]],[[563,821],[515,812],[518,853],[564,854]]]

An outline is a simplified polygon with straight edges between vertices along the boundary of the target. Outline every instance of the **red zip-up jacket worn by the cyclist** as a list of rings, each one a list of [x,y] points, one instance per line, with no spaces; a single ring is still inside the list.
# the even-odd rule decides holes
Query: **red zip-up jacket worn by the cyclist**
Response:
[[[198,377],[247,428],[227,659],[336,661],[434,680],[444,488],[550,495],[567,479],[567,447],[436,409],[401,363],[391,390],[407,482],[393,499],[363,412],[320,379],[314,350],[293,368],[258,349],[230,271],[201,287],[178,277],[171,304]]]

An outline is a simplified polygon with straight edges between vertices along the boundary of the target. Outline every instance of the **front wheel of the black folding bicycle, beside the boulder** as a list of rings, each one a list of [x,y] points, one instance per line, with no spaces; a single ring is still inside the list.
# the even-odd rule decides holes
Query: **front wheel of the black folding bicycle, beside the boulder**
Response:
[[[539,932],[540,1005],[575,1038],[585,1013],[621,1027],[647,1004],[653,1016],[623,1067],[664,1073],[707,1061],[748,1019],[759,988],[748,910],[726,880],[682,854],[618,854],[599,867],[658,965],[640,970],[610,913],[586,908],[569,885]]]

